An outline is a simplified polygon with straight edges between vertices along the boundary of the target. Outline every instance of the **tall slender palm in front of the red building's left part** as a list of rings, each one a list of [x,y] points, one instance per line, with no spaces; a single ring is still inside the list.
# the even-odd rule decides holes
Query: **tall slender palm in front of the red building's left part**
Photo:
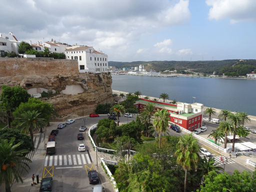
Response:
[[[166,132],[166,129],[168,127],[168,121],[169,121],[169,113],[166,109],[157,108],[157,111],[154,113],[154,127],[155,130],[158,132],[159,136],[159,148],[161,146],[161,133]]]

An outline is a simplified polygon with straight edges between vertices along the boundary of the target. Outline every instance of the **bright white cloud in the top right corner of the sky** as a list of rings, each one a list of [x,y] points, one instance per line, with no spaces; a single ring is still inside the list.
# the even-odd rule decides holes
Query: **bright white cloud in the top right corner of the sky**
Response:
[[[209,19],[229,19],[231,23],[239,21],[256,21],[256,0],[206,0],[211,6]]]

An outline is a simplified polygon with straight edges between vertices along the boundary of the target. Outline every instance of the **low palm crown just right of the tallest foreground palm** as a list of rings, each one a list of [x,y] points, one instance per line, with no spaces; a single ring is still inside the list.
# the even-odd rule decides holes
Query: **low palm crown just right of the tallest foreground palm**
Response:
[[[217,173],[219,173],[219,170],[224,170],[223,167],[217,166],[219,162],[215,162],[215,159],[213,157],[209,157],[208,160],[205,156],[200,161],[200,167],[202,169],[203,175],[207,175],[208,172],[214,170]]]

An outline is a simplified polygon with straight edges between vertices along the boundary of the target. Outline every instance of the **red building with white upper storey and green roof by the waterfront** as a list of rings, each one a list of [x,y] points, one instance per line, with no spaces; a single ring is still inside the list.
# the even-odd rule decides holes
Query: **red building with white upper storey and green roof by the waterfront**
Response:
[[[201,103],[184,103],[177,104],[165,103],[149,99],[140,98],[135,102],[135,106],[140,111],[147,103],[153,103],[155,110],[166,109],[169,112],[170,122],[177,124],[187,130],[194,130],[202,125],[203,104]]]

